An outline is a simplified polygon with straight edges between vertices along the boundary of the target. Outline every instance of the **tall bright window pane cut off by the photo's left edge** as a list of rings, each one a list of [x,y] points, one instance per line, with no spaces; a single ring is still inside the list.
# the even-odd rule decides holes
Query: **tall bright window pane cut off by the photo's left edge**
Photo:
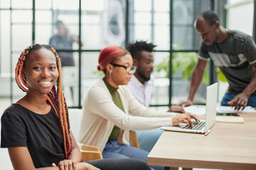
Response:
[[[0,11],[0,73],[10,72],[10,40],[11,40],[11,23],[10,12]]]

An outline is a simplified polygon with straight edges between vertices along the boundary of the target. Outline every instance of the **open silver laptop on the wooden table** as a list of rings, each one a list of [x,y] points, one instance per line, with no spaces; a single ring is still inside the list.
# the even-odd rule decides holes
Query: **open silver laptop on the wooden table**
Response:
[[[180,123],[177,126],[163,126],[162,130],[170,130],[176,132],[193,132],[193,133],[206,133],[215,123],[216,106],[217,106],[218,83],[212,84],[207,87],[206,92],[206,120],[201,120],[200,123],[193,122],[193,128],[186,123]]]

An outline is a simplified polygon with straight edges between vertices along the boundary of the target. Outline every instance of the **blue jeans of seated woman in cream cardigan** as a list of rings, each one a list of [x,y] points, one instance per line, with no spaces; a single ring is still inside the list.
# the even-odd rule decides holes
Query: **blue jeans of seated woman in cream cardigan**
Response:
[[[136,158],[142,159],[146,162],[149,152],[146,152],[137,147],[130,147],[127,145],[119,145],[117,140],[111,140],[107,142],[103,152],[103,159],[112,159],[112,158]],[[150,166],[151,169],[164,170],[164,166]]]

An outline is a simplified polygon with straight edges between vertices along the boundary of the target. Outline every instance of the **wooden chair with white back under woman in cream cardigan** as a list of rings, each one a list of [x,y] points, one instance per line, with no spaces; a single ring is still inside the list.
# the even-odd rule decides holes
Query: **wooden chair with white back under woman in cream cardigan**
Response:
[[[82,119],[82,110],[81,109],[69,109],[69,118],[70,118],[70,127],[73,132],[75,139],[78,139],[78,132],[80,130],[80,122]],[[130,131],[129,138],[132,142],[132,147],[139,148],[139,142],[137,139],[136,132]],[[82,152],[82,161],[91,161],[95,159],[103,159],[102,152],[100,152],[99,147],[95,147],[92,145],[82,145],[78,143],[78,146]]]

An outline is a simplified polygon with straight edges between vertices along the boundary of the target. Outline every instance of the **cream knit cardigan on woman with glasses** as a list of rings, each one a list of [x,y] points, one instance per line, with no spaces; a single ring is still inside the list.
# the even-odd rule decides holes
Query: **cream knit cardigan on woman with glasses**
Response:
[[[171,117],[177,113],[162,113],[145,108],[125,86],[119,86],[117,91],[125,113],[114,104],[102,79],[87,90],[82,106],[79,142],[95,145],[102,151],[114,125],[124,130],[122,140],[125,145],[129,145],[129,130],[149,130],[172,125]]]

